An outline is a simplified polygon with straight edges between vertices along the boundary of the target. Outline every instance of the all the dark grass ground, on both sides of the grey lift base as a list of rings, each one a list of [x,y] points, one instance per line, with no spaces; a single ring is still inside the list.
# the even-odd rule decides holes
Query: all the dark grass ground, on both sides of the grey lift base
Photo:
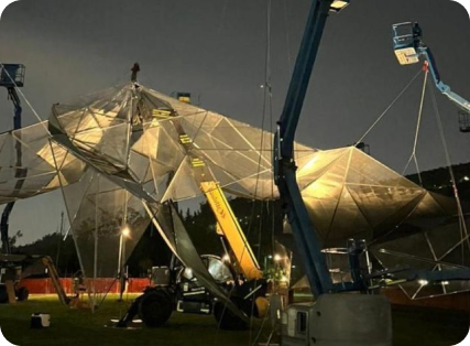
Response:
[[[218,331],[212,316],[174,313],[162,328],[134,329],[106,327],[111,318],[124,314],[127,304],[133,296],[124,296],[118,302],[110,295],[95,311],[69,309],[61,305],[56,296],[32,295],[26,302],[15,305],[0,305],[0,332],[12,345],[252,345],[262,321],[253,323],[253,329],[245,332]],[[31,314],[35,312],[51,315],[51,327],[30,328]],[[469,333],[470,315],[464,312],[424,307],[394,306],[394,345],[458,345]],[[261,332],[261,342],[267,339],[269,323]],[[251,340],[251,342],[250,342]],[[274,339],[273,339],[274,342]]]

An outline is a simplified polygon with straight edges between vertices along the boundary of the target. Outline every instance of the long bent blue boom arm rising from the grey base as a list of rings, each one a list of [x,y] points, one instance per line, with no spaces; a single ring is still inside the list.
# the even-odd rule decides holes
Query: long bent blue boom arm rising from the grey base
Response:
[[[318,296],[334,288],[320,242],[302,199],[296,180],[294,136],[330,11],[338,12],[348,1],[314,0],[274,138],[274,181],[293,229],[295,244],[305,264],[313,293]]]

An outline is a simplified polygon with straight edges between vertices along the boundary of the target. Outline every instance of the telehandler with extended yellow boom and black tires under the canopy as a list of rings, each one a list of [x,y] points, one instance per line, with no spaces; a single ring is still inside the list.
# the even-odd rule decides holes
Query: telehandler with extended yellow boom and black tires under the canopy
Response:
[[[189,93],[175,95],[183,102],[190,101]],[[269,303],[265,298],[266,280],[262,278],[263,272],[218,182],[207,169],[204,159],[192,151],[193,142],[189,136],[185,133],[172,110],[167,111],[166,117],[179,136],[181,145],[190,161],[193,175],[217,219],[216,229],[225,249],[222,258],[203,255],[201,260],[215,281],[244,315],[262,316]],[[166,207],[175,209],[171,202]],[[220,327],[226,329],[241,329],[247,326],[247,321],[226,309],[222,302],[198,282],[192,269],[184,268],[175,256],[170,267],[154,268],[152,277],[153,285],[133,302],[128,313],[118,322],[118,326],[127,326],[139,314],[146,326],[157,327],[170,318],[173,311],[214,314]]]

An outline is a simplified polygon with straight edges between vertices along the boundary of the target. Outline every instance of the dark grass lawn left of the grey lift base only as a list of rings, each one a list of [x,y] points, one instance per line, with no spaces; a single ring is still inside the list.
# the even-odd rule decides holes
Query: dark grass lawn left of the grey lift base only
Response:
[[[61,305],[54,296],[30,296],[26,302],[15,305],[0,305],[0,331],[3,337],[15,346],[21,345],[66,345],[66,346],[107,346],[107,345],[248,345],[254,339],[256,329],[247,332],[217,332],[214,316],[174,313],[162,328],[135,329],[105,327],[111,318],[119,318],[127,311],[128,302],[118,302],[117,295],[110,295],[95,313],[89,310],[68,309]],[[30,328],[31,314],[48,313],[48,328]],[[265,332],[264,339],[270,331]]]

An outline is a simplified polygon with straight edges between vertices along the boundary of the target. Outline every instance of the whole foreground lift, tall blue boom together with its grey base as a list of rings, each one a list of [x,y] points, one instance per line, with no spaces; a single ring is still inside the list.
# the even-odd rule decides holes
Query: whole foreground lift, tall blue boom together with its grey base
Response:
[[[442,282],[470,279],[468,269],[429,272],[403,267],[374,272],[367,260],[368,247],[362,239],[349,239],[342,249],[321,249],[297,185],[294,137],[328,14],[341,11],[349,2],[311,1],[274,137],[274,181],[316,300],[314,303],[292,304],[284,311],[281,321],[283,346],[392,345],[390,302],[385,296],[374,294],[378,288],[386,284],[385,278],[400,273],[403,279],[392,282],[402,283],[413,280]],[[455,95],[448,95],[457,99]],[[457,104],[466,105],[461,100]],[[328,266],[327,255],[346,257],[348,280],[335,280],[331,274],[336,270]]]

